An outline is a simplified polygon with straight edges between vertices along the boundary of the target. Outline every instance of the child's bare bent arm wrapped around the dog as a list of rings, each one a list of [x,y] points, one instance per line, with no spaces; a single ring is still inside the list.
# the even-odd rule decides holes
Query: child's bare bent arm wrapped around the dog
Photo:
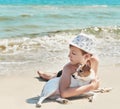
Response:
[[[95,79],[88,85],[71,88],[70,82],[71,82],[72,71],[70,69],[71,68],[69,65],[63,68],[63,73],[60,79],[60,86],[59,86],[61,97],[68,98],[72,96],[77,96],[99,87],[99,81]]]

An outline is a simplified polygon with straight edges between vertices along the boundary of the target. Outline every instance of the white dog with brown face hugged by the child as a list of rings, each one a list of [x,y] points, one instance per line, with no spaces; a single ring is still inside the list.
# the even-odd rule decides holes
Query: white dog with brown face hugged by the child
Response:
[[[71,76],[70,87],[78,87],[89,84],[95,78],[94,71],[88,66],[79,66],[75,72],[75,76]],[[36,107],[41,107],[42,102],[46,98],[54,98],[57,102],[66,104],[68,99],[61,98],[59,94],[59,81],[60,77],[55,77],[50,79],[43,87],[43,90],[40,94],[39,100],[36,103]],[[94,93],[89,93],[90,96],[93,96]],[[90,100],[92,98],[89,98]]]

